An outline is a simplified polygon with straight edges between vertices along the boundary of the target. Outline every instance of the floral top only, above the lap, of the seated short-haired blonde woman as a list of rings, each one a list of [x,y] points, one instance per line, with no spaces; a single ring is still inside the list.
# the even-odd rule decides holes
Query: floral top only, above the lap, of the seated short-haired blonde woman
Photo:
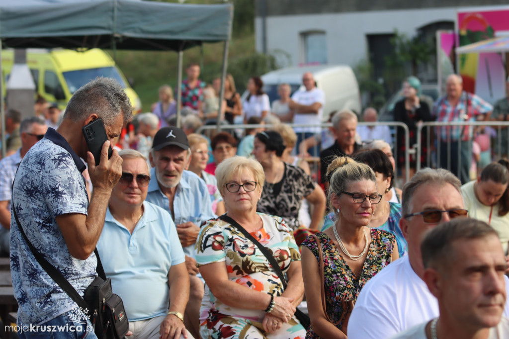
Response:
[[[292,261],[300,261],[293,231],[280,217],[262,213],[259,215],[263,220],[263,228],[251,235],[272,251],[279,267],[286,273]],[[212,219],[202,228],[196,241],[196,263],[197,266],[202,266],[219,262],[226,265],[231,281],[256,291],[281,295],[281,281],[258,247],[228,222]],[[211,310],[221,315],[260,322],[265,316],[263,310],[235,308],[223,304],[214,297],[206,284],[200,319],[206,319]]]

